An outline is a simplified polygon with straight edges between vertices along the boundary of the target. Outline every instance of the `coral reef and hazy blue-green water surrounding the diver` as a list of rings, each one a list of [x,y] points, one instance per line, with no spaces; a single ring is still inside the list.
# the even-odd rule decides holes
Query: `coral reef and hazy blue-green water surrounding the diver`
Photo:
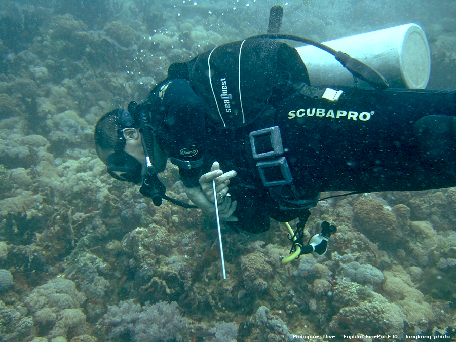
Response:
[[[454,2],[286,3],[282,32],[317,41],[417,22],[429,88],[456,87]],[[103,113],[145,99],[171,63],[264,32],[274,4],[0,2],[0,340],[454,336],[456,188],[320,201],[305,239],[333,222],[328,253],[287,265],[282,224],[222,227],[223,280],[213,219],[155,207],[98,160]],[[188,201],[175,166],[160,177]]]

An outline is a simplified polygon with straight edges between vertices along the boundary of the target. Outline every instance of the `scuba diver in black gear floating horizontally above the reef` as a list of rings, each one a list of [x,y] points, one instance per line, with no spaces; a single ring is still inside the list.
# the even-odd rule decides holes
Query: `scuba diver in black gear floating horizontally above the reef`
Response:
[[[157,173],[169,158],[203,212],[214,215],[217,201],[221,220],[250,233],[268,230],[270,217],[299,218],[292,251],[318,255],[336,231],[323,222],[302,241],[321,192],[456,186],[456,92],[386,90],[341,52],[336,59],[377,89],[312,87],[297,51],[277,40],[297,38],[271,20],[268,32],[172,64],[144,102],[101,117],[95,143],[108,173],[160,205],[170,198]]]

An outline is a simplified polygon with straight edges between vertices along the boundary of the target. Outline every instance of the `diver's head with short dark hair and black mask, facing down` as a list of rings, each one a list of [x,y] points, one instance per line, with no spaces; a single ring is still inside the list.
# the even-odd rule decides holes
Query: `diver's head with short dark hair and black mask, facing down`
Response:
[[[123,109],[112,110],[98,120],[94,138],[98,157],[112,177],[135,184],[142,182],[145,154],[139,122]]]

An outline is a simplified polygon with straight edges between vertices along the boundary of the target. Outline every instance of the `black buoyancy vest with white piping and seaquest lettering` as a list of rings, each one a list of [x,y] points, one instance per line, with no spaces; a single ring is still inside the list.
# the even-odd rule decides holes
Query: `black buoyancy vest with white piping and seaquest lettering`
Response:
[[[272,39],[245,39],[172,64],[168,79],[190,81],[202,100],[208,124],[236,129],[252,123],[269,106],[274,89],[309,82],[296,50]]]

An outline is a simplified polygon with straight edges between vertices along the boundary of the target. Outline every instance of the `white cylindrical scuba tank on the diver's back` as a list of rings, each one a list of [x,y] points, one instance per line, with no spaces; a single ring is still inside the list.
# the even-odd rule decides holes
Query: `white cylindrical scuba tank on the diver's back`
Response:
[[[405,24],[352,35],[323,44],[372,67],[391,88],[424,89],[431,73],[431,54],[420,26]],[[353,75],[331,54],[315,46],[296,48],[306,64],[312,86],[353,86]],[[360,85],[368,86],[364,81]]]

